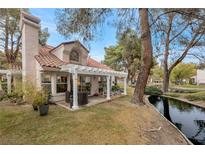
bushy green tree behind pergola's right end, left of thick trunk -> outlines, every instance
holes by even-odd
[[[137,33],[127,29],[119,34],[118,44],[105,48],[104,63],[115,70],[127,70],[133,79],[140,68],[141,42]]]

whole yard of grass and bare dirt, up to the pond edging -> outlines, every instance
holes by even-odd
[[[31,106],[0,104],[0,144],[186,144],[152,108],[129,102],[127,96],[75,112],[51,105],[45,117]]]

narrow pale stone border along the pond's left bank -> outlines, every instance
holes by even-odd
[[[171,124],[171,126],[173,126],[173,127],[182,135],[182,137],[186,140],[186,142],[188,143],[188,145],[193,145],[193,143],[184,135],[184,133],[182,133],[173,123],[171,123],[169,120],[167,120],[167,118],[166,118],[163,114],[161,114],[161,113],[156,109],[156,107],[155,107],[154,105],[152,105],[152,104],[149,102],[148,97],[149,97],[149,96],[146,96],[146,98],[145,98],[145,101],[147,102],[147,104],[148,104],[150,107],[152,107],[156,112],[158,112],[158,113],[162,116],[162,118],[164,118],[169,124]]]

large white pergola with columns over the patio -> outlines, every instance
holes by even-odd
[[[107,78],[107,100],[110,100],[110,77],[124,78],[124,95],[127,95],[127,73],[107,69],[94,68],[89,66],[81,66],[75,64],[66,64],[61,66],[61,71],[72,74],[73,78],[73,106],[72,109],[78,109],[78,88],[77,79],[78,74],[106,76]]]

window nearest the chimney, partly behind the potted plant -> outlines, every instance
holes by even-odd
[[[41,86],[44,90],[51,93],[51,75],[42,73],[41,74]]]

